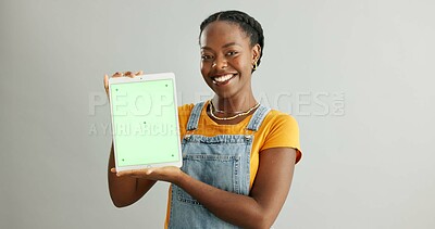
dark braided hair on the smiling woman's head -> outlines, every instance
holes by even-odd
[[[260,44],[261,48],[260,56],[257,60],[257,65],[259,66],[264,50],[264,35],[263,35],[263,28],[261,27],[260,23],[257,22],[257,20],[254,20],[253,17],[249,16],[247,13],[244,13],[241,11],[221,11],[210,15],[201,23],[199,37],[201,37],[202,30],[210,23],[215,21],[225,21],[239,25],[241,30],[244,30],[246,35],[249,36],[251,41],[251,47],[253,47],[257,43]],[[254,69],[252,69],[252,73]]]

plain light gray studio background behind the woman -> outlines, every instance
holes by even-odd
[[[115,208],[102,77],[174,72],[211,96],[199,24],[239,9],[265,33],[263,103],[299,122],[275,228],[434,228],[434,1],[0,1],[0,228],[162,228],[167,185]]]

